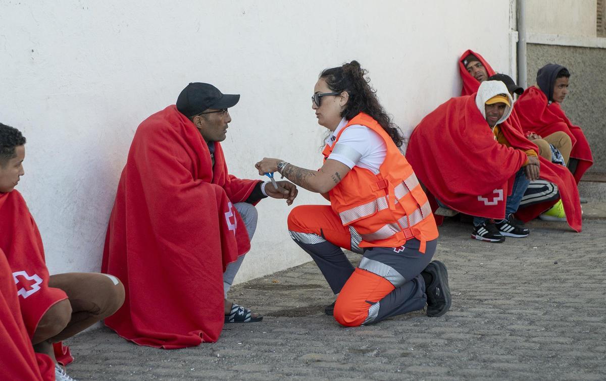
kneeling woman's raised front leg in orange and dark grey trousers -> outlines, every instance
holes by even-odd
[[[310,254],[333,293],[338,294],[354,270],[341,248],[362,253],[359,234],[344,227],[330,205],[293,208],[288,214],[288,233]]]

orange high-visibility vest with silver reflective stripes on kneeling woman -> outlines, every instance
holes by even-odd
[[[398,150],[391,137],[371,116],[359,113],[342,128],[333,144],[327,144],[324,160],[339,150],[339,137],[350,125],[364,125],[382,137],[387,147],[385,161],[379,174],[355,166],[330,192],[330,204],[341,217],[344,226],[350,226],[362,236],[360,247],[401,247],[408,239],[425,242],[438,237],[438,227],[431,207],[421,189],[413,168]]]

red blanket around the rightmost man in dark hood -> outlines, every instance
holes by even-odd
[[[558,102],[547,104],[547,97],[536,87],[529,87],[520,96],[515,105],[522,130],[534,131],[541,136],[548,136],[557,131],[564,131],[572,141],[570,157],[579,160],[574,171],[578,183],[581,177],[593,164],[593,156],[581,127],[573,125],[564,114]]]

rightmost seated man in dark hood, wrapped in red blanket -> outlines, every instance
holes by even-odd
[[[578,183],[593,164],[593,157],[581,127],[570,122],[560,105],[568,94],[569,82],[570,71],[567,68],[556,64],[545,65],[537,72],[536,85],[527,88],[518,99],[516,113],[522,130],[530,137],[554,136],[560,132],[570,137],[570,153],[562,151],[562,156],[569,155],[568,169]],[[553,140],[558,136],[561,135],[554,136]]]

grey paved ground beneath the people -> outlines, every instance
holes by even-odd
[[[469,239],[470,225],[445,223],[436,259],[448,267],[453,306],[443,317],[419,311],[342,328],[323,314],[333,296],[307,263],[234,287],[236,301],[265,319],[226,326],[218,343],[156,350],[101,328],[68,342],[77,357],[68,373],[82,380],[605,380],[606,220],[594,213],[579,234],[564,223],[528,227],[526,239],[488,244]]]

